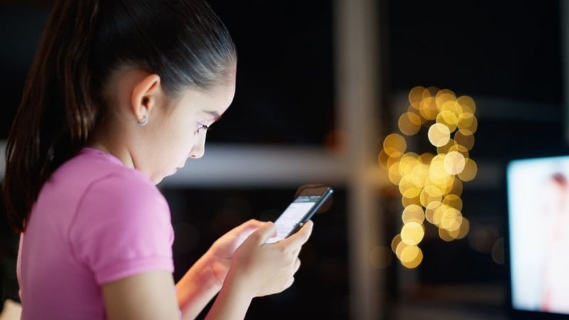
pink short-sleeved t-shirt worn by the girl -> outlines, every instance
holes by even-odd
[[[164,196],[118,158],[84,147],[43,185],[20,235],[22,320],[106,319],[101,285],[174,272]]]

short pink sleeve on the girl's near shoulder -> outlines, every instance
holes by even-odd
[[[68,237],[97,284],[151,270],[174,272],[170,210],[142,173],[114,173],[85,190]]]

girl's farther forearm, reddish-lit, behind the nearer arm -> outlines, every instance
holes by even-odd
[[[183,320],[195,319],[219,292],[221,285],[202,257],[176,284],[176,298]]]

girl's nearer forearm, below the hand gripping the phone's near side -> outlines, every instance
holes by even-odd
[[[205,320],[242,320],[253,300],[253,295],[240,278],[229,274]]]

